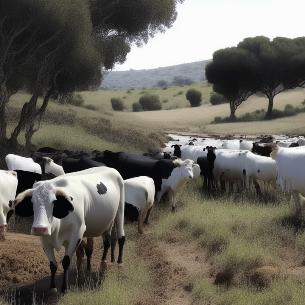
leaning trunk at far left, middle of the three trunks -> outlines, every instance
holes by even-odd
[[[18,146],[18,136],[20,132],[33,121],[34,111],[36,110],[38,94],[34,93],[28,103],[22,107],[20,121],[16,128],[12,131],[12,136],[9,139],[13,147]]]

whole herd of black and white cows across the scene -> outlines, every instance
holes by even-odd
[[[110,246],[114,262],[116,242],[117,264],[121,266],[124,217],[137,221],[142,234],[154,199],[160,201],[167,192],[174,210],[178,191],[199,175],[204,178],[203,188],[225,190],[228,181],[230,192],[235,185],[237,189],[253,185],[258,195],[258,181],[276,182],[292,194],[296,213],[300,212],[298,195],[305,196],[303,139],[289,145],[233,140],[223,141],[219,147],[206,145],[208,141],[205,146],[200,142],[194,145],[193,140],[192,144],[173,144],[163,153],[142,156],[107,150],[69,155],[50,148],[40,149],[30,158],[9,154],[5,158],[9,170],[0,170],[0,235],[13,213],[33,217],[31,234],[40,236],[51,270],[49,294],[56,294],[54,248],[59,251],[64,246],[66,250],[62,292],[67,289],[67,270],[75,252],[78,267],[86,253],[90,270],[93,237],[102,236],[104,242],[100,271],[106,269]]]

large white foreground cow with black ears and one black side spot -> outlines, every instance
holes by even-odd
[[[83,237],[102,235],[104,252],[101,270],[107,266],[110,234],[116,219],[118,227],[119,258],[123,264],[124,236],[124,181],[117,170],[94,167],[76,173],[61,175],[52,180],[39,181],[19,194],[12,208],[17,215],[34,215],[31,234],[39,235],[51,269],[50,294],[56,294],[57,263],[54,248],[66,249],[63,259],[62,292],[68,286],[70,260]]]

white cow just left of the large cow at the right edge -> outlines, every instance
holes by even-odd
[[[270,157],[247,153],[246,173],[250,181],[253,182],[257,195],[261,195],[260,186],[256,179],[264,182],[276,181],[276,162]]]

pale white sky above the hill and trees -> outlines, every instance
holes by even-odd
[[[236,46],[246,37],[305,36],[304,0],[185,0],[177,11],[173,27],[142,48],[133,46],[114,71],[210,59],[214,51]]]

